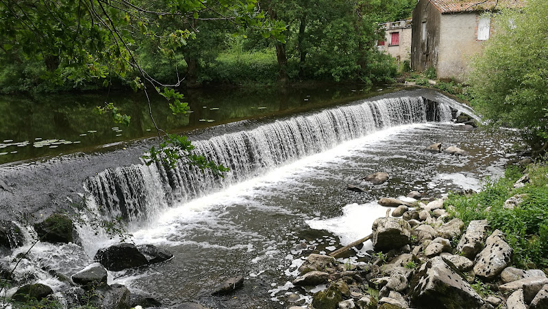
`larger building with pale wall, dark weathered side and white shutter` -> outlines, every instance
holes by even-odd
[[[473,55],[494,31],[483,13],[523,8],[525,0],[419,0],[413,11],[411,68],[436,68],[438,79],[463,81]]]

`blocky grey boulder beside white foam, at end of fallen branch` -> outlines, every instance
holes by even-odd
[[[399,249],[410,243],[411,226],[406,220],[378,218],[373,221],[372,230],[375,250]]]

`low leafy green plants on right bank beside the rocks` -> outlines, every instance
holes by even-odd
[[[493,229],[506,234],[512,247],[512,261],[518,267],[548,267],[548,163],[530,165],[525,171],[530,182],[514,188],[522,174],[511,168],[496,182],[488,181],[482,191],[467,198],[451,194],[445,203],[449,213],[460,217],[466,225],[471,220],[487,219]],[[523,195],[523,202],[506,208],[504,202]]]

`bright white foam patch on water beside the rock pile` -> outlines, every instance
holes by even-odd
[[[340,238],[340,245],[348,245],[371,234],[373,221],[386,215],[386,207],[377,202],[349,204],[343,207],[343,215],[331,219],[314,218],[306,224],[315,230],[327,230]],[[372,248],[371,241],[364,243],[361,251]],[[327,248],[326,248],[327,249]]]

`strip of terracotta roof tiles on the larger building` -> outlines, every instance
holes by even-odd
[[[525,0],[430,0],[442,13],[523,8]]]

